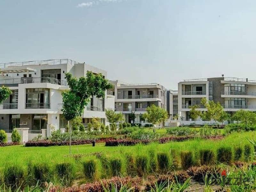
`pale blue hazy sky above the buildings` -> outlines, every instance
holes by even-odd
[[[70,58],[109,79],[256,79],[256,1],[0,1],[0,62]]]

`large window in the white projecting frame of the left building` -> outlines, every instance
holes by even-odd
[[[50,108],[50,89],[26,89],[26,108]]]

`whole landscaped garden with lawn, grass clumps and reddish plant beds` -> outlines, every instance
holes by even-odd
[[[28,191],[251,190],[255,188],[256,176],[254,145],[249,141],[256,136],[253,130],[253,126],[230,124],[225,129],[172,127],[153,132],[152,128],[123,127],[104,134],[74,131],[72,140],[76,143],[71,156],[65,145],[0,147],[1,188],[27,187]],[[32,143],[68,140],[68,133],[57,131],[47,140]],[[90,144],[79,145],[85,140]],[[98,141],[95,147],[93,140]],[[114,144],[109,145],[109,142]],[[223,180],[218,183],[224,173],[225,177],[240,177],[241,174],[249,185],[227,186]]]

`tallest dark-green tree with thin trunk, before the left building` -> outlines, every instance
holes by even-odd
[[[105,96],[105,91],[113,86],[107,79],[103,78],[102,74],[93,74],[88,71],[86,77],[77,79],[70,73],[65,74],[69,90],[62,92],[63,107],[61,111],[65,119],[69,123],[69,153],[71,155],[71,124],[70,121],[81,116],[85,106],[90,101],[91,96],[95,95],[98,98]]]

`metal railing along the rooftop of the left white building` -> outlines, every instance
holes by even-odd
[[[22,67],[29,65],[60,65],[60,64],[70,64],[74,65],[78,63],[70,59],[53,59],[53,60],[35,60],[35,61],[25,61],[25,62],[10,62],[10,63],[0,63],[0,68],[7,67]]]

